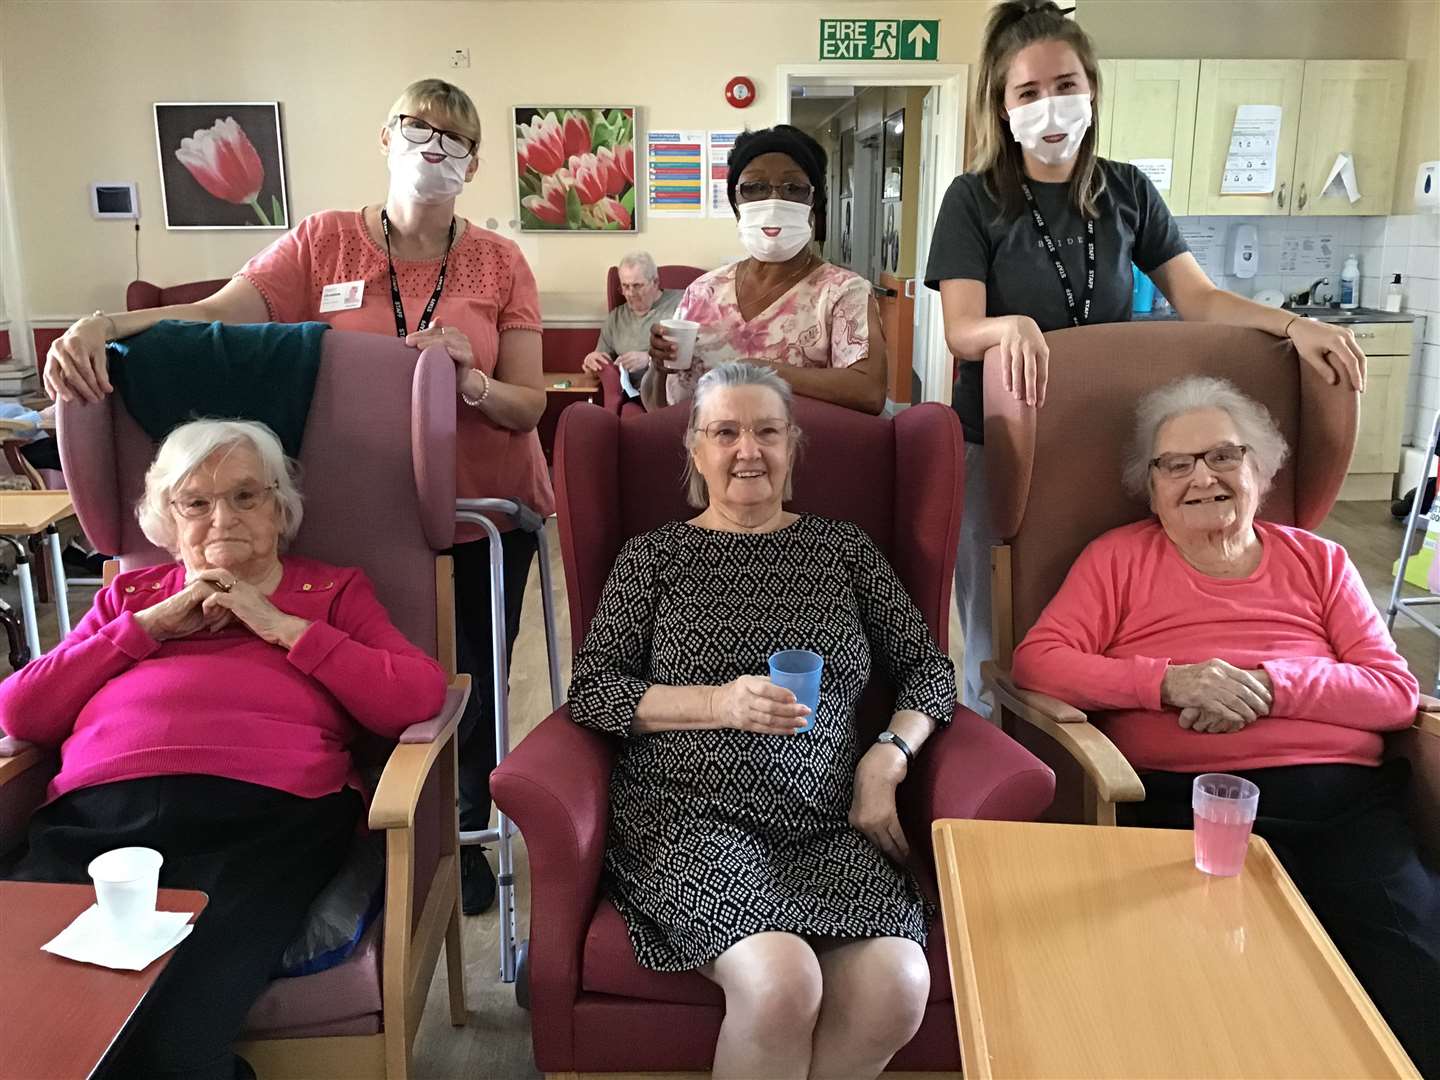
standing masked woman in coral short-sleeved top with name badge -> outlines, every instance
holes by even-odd
[[[461,498],[517,498],[541,516],[554,492],[536,425],[544,412],[540,301],[513,240],[455,215],[478,168],[480,114],[462,89],[422,79],[405,89],[380,128],[390,170],[383,203],[323,210],[252,258],[213,297],[150,311],[82,318],[45,364],[52,396],[109,393],[105,341],[163,318],[220,323],[321,320],[337,330],[396,334],[442,344],[459,369],[456,488]],[[501,530],[508,528],[501,523]],[[459,667],[477,687],[491,674],[490,543],[477,526],[456,528],[455,596]],[[536,539],[503,533],[507,649],[520,631]],[[471,696],[461,721],[461,828],[490,824],[494,696]],[[495,878],[484,850],[462,848],[464,909],[490,907]]]

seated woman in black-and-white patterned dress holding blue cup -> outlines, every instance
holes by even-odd
[[[608,894],[642,966],[724,991],[717,1077],[877,1076],[929,992],[896,788],[949,721],[955,671],[860,527],[783,508],[798,444],[775,372],[700,380],[701,513],[625,544],[570,684],[575,720],[624,740]],[[763,674],[786,648],[825,658],[805,732]],[[896,711],[857,766],[873,658]]]

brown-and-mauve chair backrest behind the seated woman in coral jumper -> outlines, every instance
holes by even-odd
[[[1139,399],[1182,376],[1228,379],[1264,405],[1284,435],[1290,456],[1261,517],[1315,528],[1333,505],[1355,445],[1359,395],[1328,384],[1289,341],[1204,323],[1080,327],[1045,341],[1050,383],[1038,410],[1015,402],[999,364],[985,360],[985,461],[995,534],[1011,549],[1014,642],[1087,543],[1149,514],[1120,487],[1120,464]]]

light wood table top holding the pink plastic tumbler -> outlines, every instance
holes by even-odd
[[[1414,1077],[1270,847],[1181,829],[937,821],[966,1080]]]

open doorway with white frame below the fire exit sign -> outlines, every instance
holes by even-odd
[[[893,408],[949,402],[939,297],[923,287],[940,197],[960,171],[962,65],[780,68],[779,121],[829,154],[825,258],[870,281],[886,328]]]

